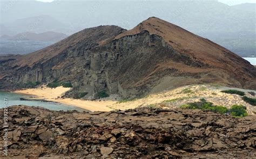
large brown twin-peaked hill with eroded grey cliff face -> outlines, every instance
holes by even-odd
[[[158,18],[134,29],[85,29],[43,50],[2,61],[3,88],[28,81],[70,81],[73,91],[96,98],[105,89],[123,98],[187,84],[219,83],[256,89],[256,69],[210,40]],[[72,96],[72,91],[68,94]]]

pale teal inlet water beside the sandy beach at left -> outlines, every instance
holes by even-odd
[[[0,108],[4,107],[4,98],[7,98],[8,106],[26,105],[26,106],[39,106],[39,107],[44,107],[44,108],[51,109],[51,110],[78,110],[78,111],[84,110],[84,109],[81,109],[78,107],[64,105],[62,103],[19,100],[19,98],[26,98],[26,97],[29,97],[29,96],[17,94],[17,93],[1,92],[0,91]]]

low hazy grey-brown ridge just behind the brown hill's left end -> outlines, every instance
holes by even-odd
[[[0,39],[8,39],[8,40],[16,40],[16,41],[31,40],[31,41],[42,41],[42,42],[58,42],[59,40],[62,40],[66,37],[68,36],[64,33],[48,31],[43,33],[24,32],[24,33],[16,34],[15,36],[3,35],[0,37]]]

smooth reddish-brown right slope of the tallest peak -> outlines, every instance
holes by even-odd
[[[134,29],[119,34],[116,39],[138,34],[144,30],[149,31],[150,34],[157,34],[174,50],[187,54],[208,66],[232,71],[240,77],[248,69],[252,69],[252,66],[246,60],[242,60],[241,57],[224,47],[156,17],[151,17],[134,27]],[[249,73],[254,74],[251,77],[255,77],[255,70]]]

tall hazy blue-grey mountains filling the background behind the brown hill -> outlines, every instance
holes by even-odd
[[[107,24],[131,29],[143,19],[156,16],[224,45],[240,56],[256,55],[255,4],[228,6],[216,0],[4,1],[1,4],[3,9],[12,5],[1,13],[1,27],[5,29],[0,34],[55,31],[70,35]]]

